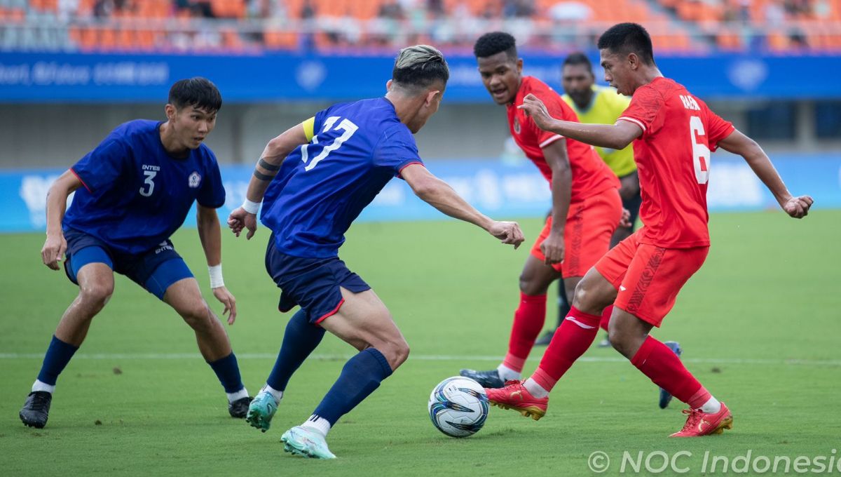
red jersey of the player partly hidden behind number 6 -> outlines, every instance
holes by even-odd
[[[534,119],[526,116],[522,109],[517,109],[528,93],[534,94],[546,104],[549,115],[555,119],[577,123],[578,116],[546,83],[535,77],[523,77],[514,103],[508,105],[508,127],[517,146],[520,146],[520,149],[526,153],[526,157],[540,169],[543,177],[552,183],[552,169],[547,164],[546,157],[543,156],[542,148],[563,139],[567,141],[569,168],[573,177],[570,202],[579,202],[609,188],[619,188],[619,179],[616,178],[616,174],[601,160],[592,146],[544,131],[538,128],[534,124]]]

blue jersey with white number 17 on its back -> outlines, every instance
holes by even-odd
[[[336,257],[345,232],[391,178],[421,163],[415,138],[386,98],[315,114],[314,136],[283,161],[263,197],[278,252]]]

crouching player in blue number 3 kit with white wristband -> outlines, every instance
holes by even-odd
[[[44,427],[56,379],[82,345],[93,316],[114,292],[114,272],[131,278],[172,306],[193,328],[198,349],[228,395],[230,416],[245,417],[246,388],[225,328],[198,290],[198,283],[169,237],[198,201],[198,237],[210,286],[236,318],[234,295],[222,280],[221,230],[216,209],[225,204],[216,157],[202,141],[214,129],[222,97],[212,82],[195,77],[172,85],[167,121],[119,125],[93,151],[61,175],[47,195],[45,265],[59,269],[79,295],[64,312],[38,379],[20,411],[30,427]],[[67,197],[76,191],[70,209]]]

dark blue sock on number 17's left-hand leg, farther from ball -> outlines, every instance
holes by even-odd
[[[274,390],[286,390],[289,378],[301,363],[304,363],[309,353],[318,346],[324,333],[324,328],[315,326],[307,320],[304,310],[298,310],[286,325],[278,360],[275,361],[272,374],[268,375],[266,384],[272,386]]]

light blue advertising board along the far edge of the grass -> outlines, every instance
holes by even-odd
[[[775,167],[791,193],[811,194],[815,208],[841,208],[841,155],[774,156]],[[547,182],[531,162],[431,161],[427,167],[450,183],[464,199],[495,218],[539,217],[551,204]],[[242,204],[251,166],[222,167],[227,199],[225,219]],[[61,170],[0,172],[0,232],[45,230],[45,204],[50,184]],[[740,158],[712,156],[707,202],[712,212],[775,209],[778,205],[754,172]],[[392,180],[362,212],[362,221],[437,220],[440,212],[417,199],[408,185]],[[195,225],[195,213],[187,225]]]

